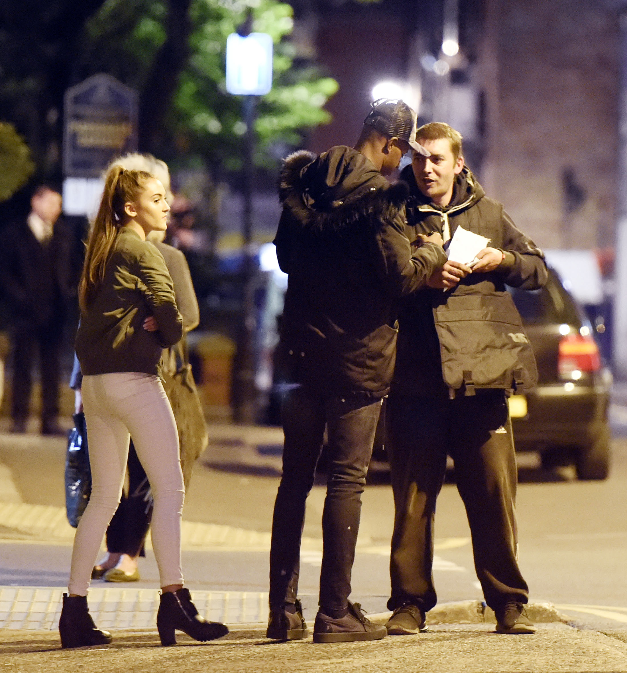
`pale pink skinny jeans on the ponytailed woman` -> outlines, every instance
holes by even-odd
[[[161,586],[183,584],[185,487],[176,422],[160,379],[138,372],[84,376],[82,393],[92,495],[74,538],[69,593],[87,595],[102,538],[120,502],[131,435],[154,497],[151,536]]]

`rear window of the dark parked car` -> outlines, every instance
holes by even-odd
[[[545,287],[521,290],[508,287],[516,308],[526,325],[568,324],[580,326],[581,318],[574,299],[562,287],[559,279],[550,273]]]

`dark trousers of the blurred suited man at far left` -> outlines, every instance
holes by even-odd
[[[13,380],[11,416],[13,421],[28,419],[32,369],[39,355],[42,422],[54,423],[59,415],[59,360],[62,324],[45,327],[18,324],[13,328]]]

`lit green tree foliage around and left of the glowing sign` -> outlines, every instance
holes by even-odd
[[[269,166],[285,145],[298,145],[302,133],[329,122],[325,102],[337,83],[311,65],[294,63],[292,7],[276,0],[192,0],[189,59],[180,72],[166,123],[153,151],[172,160],[199,157],[212,168],[241,168],[246,126],[242,100],[225,88],[226,38],[253,11],[253,30],[269,33],[275,44],[272,91],[259,100],[255,130],[257,163]],[[167,33],[168,7],[161,0],[107,0],[88,24],[84,75],[107,71],[142,91]]]

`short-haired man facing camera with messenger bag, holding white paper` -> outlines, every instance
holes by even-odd
[[[533,633],[523,610],[527,583],[517,563],[517,468],[506,390],[523,380],[533,384],[536,370],[505,285],[541,287],[546,265],[541,251],[464,166],[457,131],[436,122],[418,129],[416,138],[430,156],[414,155],[401,173],[411,194],[409,238],[441,232],[446,243],[461,226],[490,242],[472,268],[444,264],[428,287],[407,297],[399,315],[386,418],[395,500],[388,602],[394,613],[388,632],[426,630],[425,613],[436,604],[434,513],[449,454],[471,529],[477,577],[496,612],[497,631]],[[463,322],[469,316],[474,325]],[[504,320],[518,323],[513,333],[502,330]],[[531,371],[521,363],[523,347]]]

